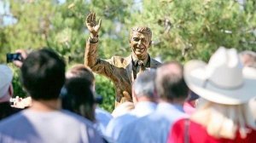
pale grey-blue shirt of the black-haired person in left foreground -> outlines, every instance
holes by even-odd
[[[0,142],[102,142],[92,123],[72,112],[26,109],[0,123]]]

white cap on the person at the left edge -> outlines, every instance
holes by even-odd
[[[9,85],[13,79],[13,72],[6,65],[0,65],[0,98],[2,98],[9,89]]]

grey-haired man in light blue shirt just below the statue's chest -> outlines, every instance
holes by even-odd
[[[106,135],[116,141],[119,133],[125,126],[139,117],[144,117],[151,112],[154,112],[156,100],[158,96],[154,88],[155,70],[150,70],[140,74],[132,86],[132,99],[135,104],[135,109],[131,112],[113,118],[109,123]]]

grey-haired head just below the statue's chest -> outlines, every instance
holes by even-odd
[[[133,99],[156,101],[156,93],[154,88],[155,70],[143,72],[133,83]]]

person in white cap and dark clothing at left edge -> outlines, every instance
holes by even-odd
[[[0,120],[9,117],[19,109],[10,106],[9,99],[13,96],[12,86],[13,72],[6,65],[0,65]]]

